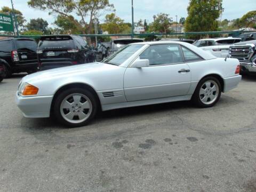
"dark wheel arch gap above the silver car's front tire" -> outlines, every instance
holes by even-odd
[[[63,86],[59,87],[59,89],[54,93],[52,103],[51,103],[51,110],[50,110],[51,115],[52,115],[53,108],[54,108],[53,105],[54,105],[54,102],[55,102],[58,94],[61,93],[64,90],[67,90],[67,89],[70,89],[70,88],[75,88],[75,87],[89,90],[95,96],[95,98],[96,98],[96,100],[99,104],[99,108],[100,108],[100,110],[102,110],[99,96],[98,96],[97,92],[93,89],[92,86],[90,86],[88,84],[85,84],[85,83],[69,83],[69,84],[66,84],[66,85],[63,85]]]

